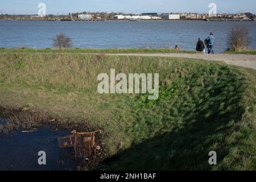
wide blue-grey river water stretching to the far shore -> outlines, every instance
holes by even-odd
[[[52,47],[52,38],[63,32],[73,39],[74,47],[82,48],[142,48],[174,47],[195,50],[197,39],[215,36],[215,52],[225,51],[232,26],[250,30],[251,48],[256,49],[256,22],[204,22],[194,20],[137,22],[45,22],[0,21],[0,47]]]

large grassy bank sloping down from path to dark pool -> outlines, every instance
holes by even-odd
[[[1,50],[0,107],[39,109],[101,127],[112,156],[102,169],[256,169],[252,69],[204,60],[47,51]],[[110,68],[159,73],[159,99],[98,94],[97,76],[109,75]],[[212,150],[217,166],[208,164]]]

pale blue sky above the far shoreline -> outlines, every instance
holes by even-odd
[[[209,3],[217,4],[217,13],[251,12],[256,14],[255,0],[0,0],[3,14],[37,14],[38,4],[46,3],[47,14],[68,14],[81,11],[124,13],[208,13]]]

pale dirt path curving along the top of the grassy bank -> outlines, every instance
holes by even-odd
[[[118,53],[108,55],[184,57],[210,61],[224,61],[226,64],[237,65],[240,67],[252,68],[256,70],[256,55],[237,55],[228,53],[220,53],[215,55],[197,53]]]

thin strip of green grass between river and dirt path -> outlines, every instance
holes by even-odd
[[[0,48],[0,52],[55,52],[55,53],[197,53],[196,51],[175,50],[173,48]]]

